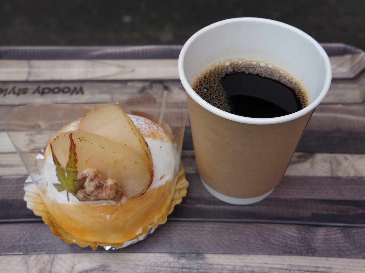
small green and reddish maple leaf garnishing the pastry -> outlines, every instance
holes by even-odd
[[[53,152],[52,143],[50,145],[53,162],[56,165],[56,175],[58,178],[59,183],[53,183],[53,186],[57,189],[57,191],[67,191],[67,200],[69,200],[68,193],[76,196],[76,192],[78,189],[81,188],[82,184],[85,183],[86,177],[82,179],[76,179],[77,177],[77,155],[76,155],[76,144],[72,139],[72,133],[69,135],[70,138],[70,149],[69,149],[69,159],[66,164],[66,171],[65,168],[61,167],[56,155]]]

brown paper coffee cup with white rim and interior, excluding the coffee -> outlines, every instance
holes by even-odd
[[[307,87],[310,104],[274,118],[224,112],[191,87],[196,75],[216,62],[262,58],[296,75]],[[196,164],[204,187],[232,204],[266,198],[283,178],[315,107],[331,83],[326,52],[295,27],[262,18],[223,20],[196,32],[183,46],[180,80],[188,94]]]

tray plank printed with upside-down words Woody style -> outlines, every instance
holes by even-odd
[[[334,80],[323,100],[325,104],[357,104],[365,100],[365,74],[355,80]],[[178,79],[146,79],[121,81],[51,81],[51,82],[1,82],[0,97],[2,105],[29,103],[90,103],[96,101],[118,101],[126,99],[126,94],[138,95],[146,92],[181,90]],[[122,92],[121,92],[122,91]],[[344,96],[346,92],[346,96]],[[99,98],[95,98],[95,95]],[[136,95],[137,94],[137,95]],[[15,100],[16,99],[16,100]],[[75,101],[76,100],[76,101]]]

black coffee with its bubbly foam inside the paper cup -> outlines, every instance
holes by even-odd
[[[309,104],[299,79],[284,67],[258,58],[218,62],[201,71],[192,88],[211,105],[245,117],[285,116]]]

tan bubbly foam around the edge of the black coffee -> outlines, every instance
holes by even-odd
[[[302,108],[309,105],[307,88],[299,78],[285,67],[261,58],[229,59],[215,63],[201,71],[191,84],[193,90],[206,102],[218,109],[231,113],[226,92],[220,79],[233,73],[259,75],[278,81],[295,91]]]

